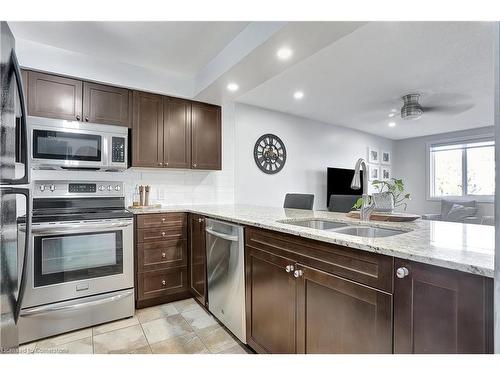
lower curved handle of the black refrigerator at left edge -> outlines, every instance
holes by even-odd
[[[21,280],[17,293],[17,300],[14,300],[14,321],[17,323],[21,313],[24,292],[26,291],[26,278],[28,273],[28,251],[31,243],[31,201],[30,190],[26,188],[4,187],[2,188],[2,195],[24,195],[26,197],[26,223],[25,223],[25,236],[24,236],[24,253],[22,257],[21,266]]]

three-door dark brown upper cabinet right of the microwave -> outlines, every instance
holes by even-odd
[[[220,107],[139,91],[133,102],[133,167],[221,169]]]

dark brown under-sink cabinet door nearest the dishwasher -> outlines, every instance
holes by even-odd
[[[247,342],[259,353],[295,353],[294,261],[245,248]]]

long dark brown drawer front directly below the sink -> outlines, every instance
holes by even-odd
[[[257,228],[245,233],[246,246],[392,293],[392,257]]]

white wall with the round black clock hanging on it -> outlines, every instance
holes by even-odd
[[[368,146],[392,150],[393,141],[348,128],[245,104],[236,104],[235,201],[279,207],[286,193],[312,193],[315,209],[326,208],[327,167],[354,168]],[[265,133],[285,143],[281,172],[267,175],[253,159],[255,141]]]

